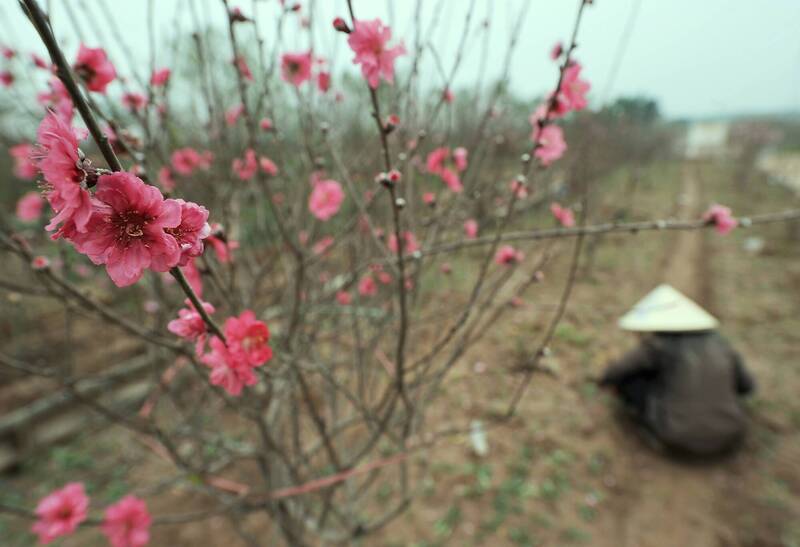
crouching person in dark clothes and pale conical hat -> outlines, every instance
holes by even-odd
[[[739,397],[755,386],[739,354],[716,332],[718,324],[669,285],[657,287],[619,321],[641,333],[641,341],[608,367],[600,383],[614,388],[633,418],[667,448],[715,455],[744,436]]]

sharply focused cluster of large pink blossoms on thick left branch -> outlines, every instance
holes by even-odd
[[[146,269],[165,272],[203,252],[210,234],[205,207],[164,199],[131,173],[100,174],[78,148],[80,135],[53,113],[39,126],[37,167],[56,212],[47,229],[60,225],[54,237],[104,264],[118,287],[135,283]]]

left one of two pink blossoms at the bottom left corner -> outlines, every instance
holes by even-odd
[[[50,543],[57,537],[74,532],[78,525],[86,520],[88,509],[89,498],[86,496],[83,484],[71,482],[39,502],[36,506],[36,516],[39,520],[31,530],[39,536],[41,543]]]

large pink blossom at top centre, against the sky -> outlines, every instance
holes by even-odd
[[[347,43],[356,54],[353,62],[361,65],[361,73],[369,86],[377,88],[381,77],[390,84],[394,83],[394,60],[406,53],[403,43],[387,47],[387,42],[392,39],[392,30],[380,19],[355,21],[353,26]]]

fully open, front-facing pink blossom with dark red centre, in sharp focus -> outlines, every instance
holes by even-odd
[[[166,228],[181,224],[181,204],[164,200],[155,186],[130,173],[102,175],[85,234],[73,242],[95,264],[105,264],[118,287],[136,283],[144,270],[165,272],[181,259],[178,241]]]

